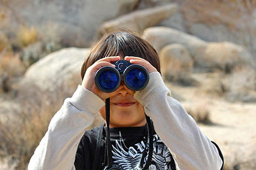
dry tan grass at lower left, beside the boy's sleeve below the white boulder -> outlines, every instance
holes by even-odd
[[[65,92],[56,96],[42,92],[33,85],[27,85],[18,97],[19,113],[1,115],[0,158],[8,159],[8,164],[16,164],[15,169],[26,169],[35,148],[43,138],[49,122],[63,104]],[[67,95],[67,93],[66,93]]]

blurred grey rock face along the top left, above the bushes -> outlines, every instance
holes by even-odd
[[[58,25],[61,44],[67,46],[89,46],[97,27],[105,21],[129,13],[134,10],[138,0],[107,0],[107,1],[6,1],[0,6],[12,6],[6,18],[10,18],[10,27],[17,31],[21,24],[35,26],[39,33],[48,23]],[[11,17],[9,16],[11,15]],[[18,18],[18,19],[17,19]],[[17,24],[19,23],[19,24]],[[0,24],[1,25],[1,24]],[[51,27],[49,27],[51,29]]]

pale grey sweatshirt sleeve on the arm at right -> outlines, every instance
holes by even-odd
[[[217,148],[181,104],[171,97],[158,72],[150,73],[145,89],[134,94],[152,118],[155,131],[168,146],[177,169],[221,169]]]

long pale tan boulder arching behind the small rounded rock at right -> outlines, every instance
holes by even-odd
[[[172,43],[186,46],[193,57],[195,66],[204,68],[206,71],[221,69],[229,73],[235,67],[254,65],[252,55],[243,46],[234,43],[207,43],[195,36],[168,27],[145,29],[143,37],[152,43],[157,52]]]

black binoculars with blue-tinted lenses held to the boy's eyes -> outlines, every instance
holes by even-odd
[[[95,74],[95,84],[102,92],[114,92],[122,80],[125,86],[133,91],[142,90],[147,86],[149,75],[145,67],[131,64],[127,60],[117,60],[113,64],[115,68],[105,66]]]

